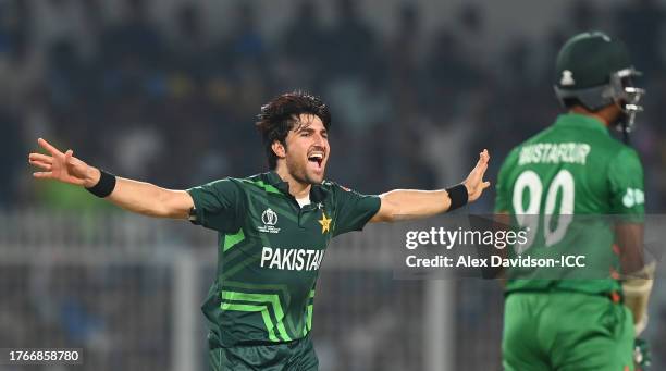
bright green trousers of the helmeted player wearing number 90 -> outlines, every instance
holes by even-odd
[[[575,292],[511,293],[505,371],[633,371],[633,317],[621,304]]]

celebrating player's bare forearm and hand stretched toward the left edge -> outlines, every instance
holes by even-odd
[[[54,180],[90,188],[99,180],[99,169],[74,157],[73,150],[60,151],[42,138],[37,140],[48,154],[30,153],[29,163],[40,168],[33,173],[38,180]],[[172,190],[150,183],[116,177],[113,191],[106,197],[119,207],[148,217],[187,219],[194,201],[185,190]]]

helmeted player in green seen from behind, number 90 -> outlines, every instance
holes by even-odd
[[[642,111],[638,75],[625,46],[608,35],[569,39],[557,57],[555,85],[568,112],[514,148],[499,170],[495,211],[531,233],[521,253],[570,248],[604,269],[584,280],[506,272],[504,370],[634,370],[653,275],[642,256],[643,168],[609,129],[628,134]],[[608,214],[621,218],[594,231],[574,220]]]

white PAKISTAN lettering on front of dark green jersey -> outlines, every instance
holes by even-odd
[[[261,268],[286,271],[317,271],[323,260],[324,250],[282,249],[263,247]]]

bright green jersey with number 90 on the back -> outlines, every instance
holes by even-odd
[[[563,114],[510,151],[499,170],[495,212],[508,212],[514,225],[528,231],[514,257],[584,257],[585,268],[510,268],[507,292],[619,290],[608,215],[642,222],[643,168],[637,152],[602,122]]]

